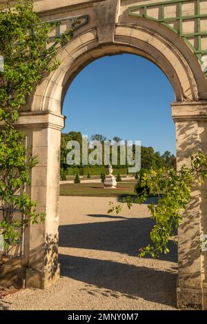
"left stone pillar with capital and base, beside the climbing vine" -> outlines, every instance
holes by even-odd
[[[0,283],[16,287],[45,288],[59,279],[59,163],[63,116],[51,112],[25,112],[17,128],[26,133],[32,155],[39,163],[31,170],[31,185],[26,188],[37,212],[46,213],[45,223],[30,225],[25,232],[21,258],[4,260]],[[2,280],[1,280],[2,279]]]

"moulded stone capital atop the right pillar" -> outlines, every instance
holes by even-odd
[[[207,119],[207,101],[186,101],[171,104],[174,121],[199,121]]]

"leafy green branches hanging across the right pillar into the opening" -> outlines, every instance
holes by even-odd
[[[154,195],[159,196],[157,205],[150,204],[151,219],[155,225],[150,232],[151,245],[143,247],[139,256],[143,257],[150,254],[153,258],[158,257],[161,253],[169,252],[169,239],[175,236],[177,227],[182,221],[182,214],[191,199],[191,192],[201,185],[207,177],[207,157],[198,152],[191,156],[190,168],[183,165],[179,171],[169,166],[159,169],[151,168],[146,170],[141,176],[141,187],[148,186]],[[127,197],[123,199],[128,207],[131,208],[133,203],[144,203],[148,194],[142,192],[135,199]],[[114,206],[110,203],[108,212],[119,212],[120,205]]]

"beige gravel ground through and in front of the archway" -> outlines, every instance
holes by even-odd
[[[61,197],[61,279],[46,290],[0,300],[8,310],[172,310],[177,247],[159,260],[138,259],[152,222],[146,205],[109,216],[109,198]],[[116,199],[111,199],[116,201]]]

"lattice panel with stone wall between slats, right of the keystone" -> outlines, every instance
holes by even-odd
[[[169,0],[128,8],[130,16],[167,26],[182,37],[207,72],[207,0]]]

